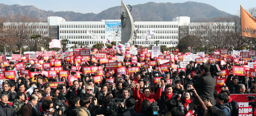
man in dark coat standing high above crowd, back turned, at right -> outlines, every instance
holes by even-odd
[[[200,73],[197,76],[194,76],[194,78],[197,78],[194,82],[194,88],[196,89],[198,95],[203,101],[210,100],[212,105],[215,105],[215,99],[214,99],[214,88],[216,84],[216,79],[212,77],[210,73],[210,65],[209,64],[202,64],[200,65]],[[194,101],[194,104],[197,105],[197,102]],[[203,116],[204,112],[202,112],[200,106],[197,106],[197,115]]]

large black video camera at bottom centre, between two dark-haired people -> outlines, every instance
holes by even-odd
[[[124,107],[122,107],[121,103],[124,104],[124,102],[125,99],[111,99],[110,102],[107,104],[107,113],[112,114],[116,110],[122,110]]]

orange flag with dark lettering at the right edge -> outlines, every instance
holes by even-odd
[[[241,7],[241,33],[242,36],[256,37],[256,19]]]

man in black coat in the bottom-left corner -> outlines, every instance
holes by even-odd
[[[12,116],[14,110],[11,105],[7,104],[8,95],[5,93],[1,94],[0,100],[0,116]]]

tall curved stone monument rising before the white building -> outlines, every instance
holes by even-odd
[[[131,10],[129,10],[127,6],[124,4],[124,2],[121,0],[121,44],[133,43],[134,21],[132,19],[130,11]]]

